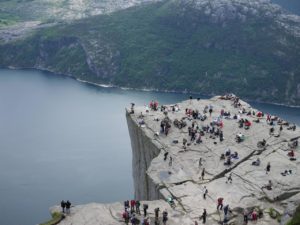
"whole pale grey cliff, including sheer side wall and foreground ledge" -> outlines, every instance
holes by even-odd
[[[208,111],[204,113],[208,108],[212,109],[211,115]],[[201,114],[200,119],[189,114],[192,110]],[[300,204],[297,145],[300,131],[298,127],[293,130],[293,124],[287,124],[275,115],[268,119],[267,115],[261,117],[259,114],[259,110],[244,101],[239,100],[236,105],[234,100],[219,96],[209,100],[188,100],[157,111],[136,107],[131,113],[131,109],[127,109],[135,199],[157,199],[147,202],[151,224],[154,224],[155,207],[168,210],[167,224],[194,224],[204,208],[208,212],[206,224],[220,224],[224,214],[216,209],[219,197],[224,198],[224,205],[228,204],[231,209],[228,224],[243,224],[245,208],[262,213],[258,220],[261,225],[284,225],[289,221]],[[206,119],[203,119],[204,115]],[[234,115],[238,119],[234,119]],[[245,129],[244,125],[241,127],[241,122],[238,122],[241,119],[251,123],[249,129]],[[162,121],[171,124],[167,135],[160,132]],[[179,129],[174,121],[182,121],[186,126]],[[191,140],[188,130],[193,124],[202,134],[202,142]],[[205,130],[207,126],[210,127],[208,131]],[[212,127],[223,132],[222,140],[210,132]],[[239,135],[241,142],[236,141]],[[259,145],[258,142],[263,139],[266,140],[265,145]],[[223,159],[221,156],[228,149],[231,151],[231,164],[225,165],[228,157]],[[292,149],[296,154],[295,161],[288,156]],[[234,152],[238,153],[237,157],[231,155]],[[260,158],[260,165],[252,165],[257,158]],[[266,173],[268,163],[271,169]],[[227,182],[230,174],[232,182]],[[270,189],[266,188],[269,180],[272,182]],[[206,199],[203,199],[204,187],[208,189]],[[175,202],[172,207],[165,201],[170,197]],[[59,210],[58,207],[53,208],[53,211]],[[121,203],[75,206],[71,215],[60,224],[122,224],[122,211]]]

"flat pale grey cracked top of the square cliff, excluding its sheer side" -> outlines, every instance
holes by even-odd
[[[229,204],[231,209],[260,207],[268,209],[275,207],[281,213],[284,204],[282,201],[296,195],[300,191],[300,171],[299,161],[291,161],[287,155],[291,149],[291,139],[299,138],[299,129],[295,131],[287,129],[283,126],[280,132],[280,126],[277,122],[271,126],[267,122],[267,115],[260,118],[260,122],[256,123],[258,110],[253,109],[246,102],[240,101],[241,106],[235,108],[233,101],[221,100],[214,97],[210,100],[188,100],[177,104],[179,111],[172,112],[168,106],[168,117],[171,121],[182,119],[187,126],[178,129],[172,123],[172,127],[168,135],[160,133],[161,120],[165,115],[161,111],[146,112],[145,107],[135,108],[135,119],[139,121],[139,115],[144,115],[145,125],[141,129],[145,130],[145,134],[149,138],[155,139],[162,147],[161,154],[153,159],[147,174],[152,178],[155,184],[160,185],[161,193],[164,197],[170,195],[178,200],[176,209],[188,213],[191,218],[201,215],[204,208],[208,213],[219,215],[216,210],[217,199],[224,198],[224,204]],[[206,113],[207,119],[201,121],[192,119],[186,115],[185,109],[198,110],[203,115],[205,106],[212,106],[213,112],[210,116]],[[242,109],[246,113],[241,113]],[[221,118],[220,112],[224,110],[230,112],[230,118]],[[247,115],[247,112],[251,115]],[[253,111],[255,115],[253,115]],[[239,128],[237,119],[233,119],[233,115],[239,118],[247,119],[251,122],[250,129]],[[159,121],[157,121],[157,119]],[[224,134],[224,140],[220,141],[218,136],[205,133],[202,136],[202,143],[197,144],[190,141],[188,135],[188,127],[195,122],[195,127],[202,129],[203,126],[210,125],[217,119],[223,122],[221,130]],[[291,124],[290,124],[291,125]],[[215,126],[216,127],[216,126]],[[270,134],[270,128],[274,128],[274,133]],[[158,136],[155,133],[160,133]],[[244,135],[245,140],[237,143],[235,137],[238,133]],[[183,148],[183,139],[187,139],[189,146]],[[265,139],[267,145],[265,148],[257,146],[258,141]],[[173,141],[178,141],[174,144]],[[224,165],[225,160],[221,160],[221,154],[225,154],[227,149],[231,153],[237,152],[238,159],[232,159],[230,166]],[[299,147],[295,149],[297,154]],[[168,152],[168,158],[164,161],[164,153]],[[169,164],[172,157],[172,165]],[[202,158],[202,165],[199,166],[199,159]],[[253,166],[252,162],[260,158],[261,165]],[[270,162],[271,171],[266,174],[266,166]],[[204,180],[201,179],[201,171],[205,168]],[[283,176],[282,172],[292,170],[292,174]],[[226,183],[227,177],[232,173],[232,183]],[[268,181],[273,183],[272,190],[263,188]],[[208,189],[208,197],[203,199],[204,186]],[[266,214],[266,213],[265,213]],[[216,217],[217,220],[219,216]],[[223,217],[223,213],[220,213]],[[267,219],[267,217],[265,218]],[[268,219],[266,220],[268,221]],[[262,222],[262,221],[261,221]],[[273,221],[272,224],[276,224]]]

